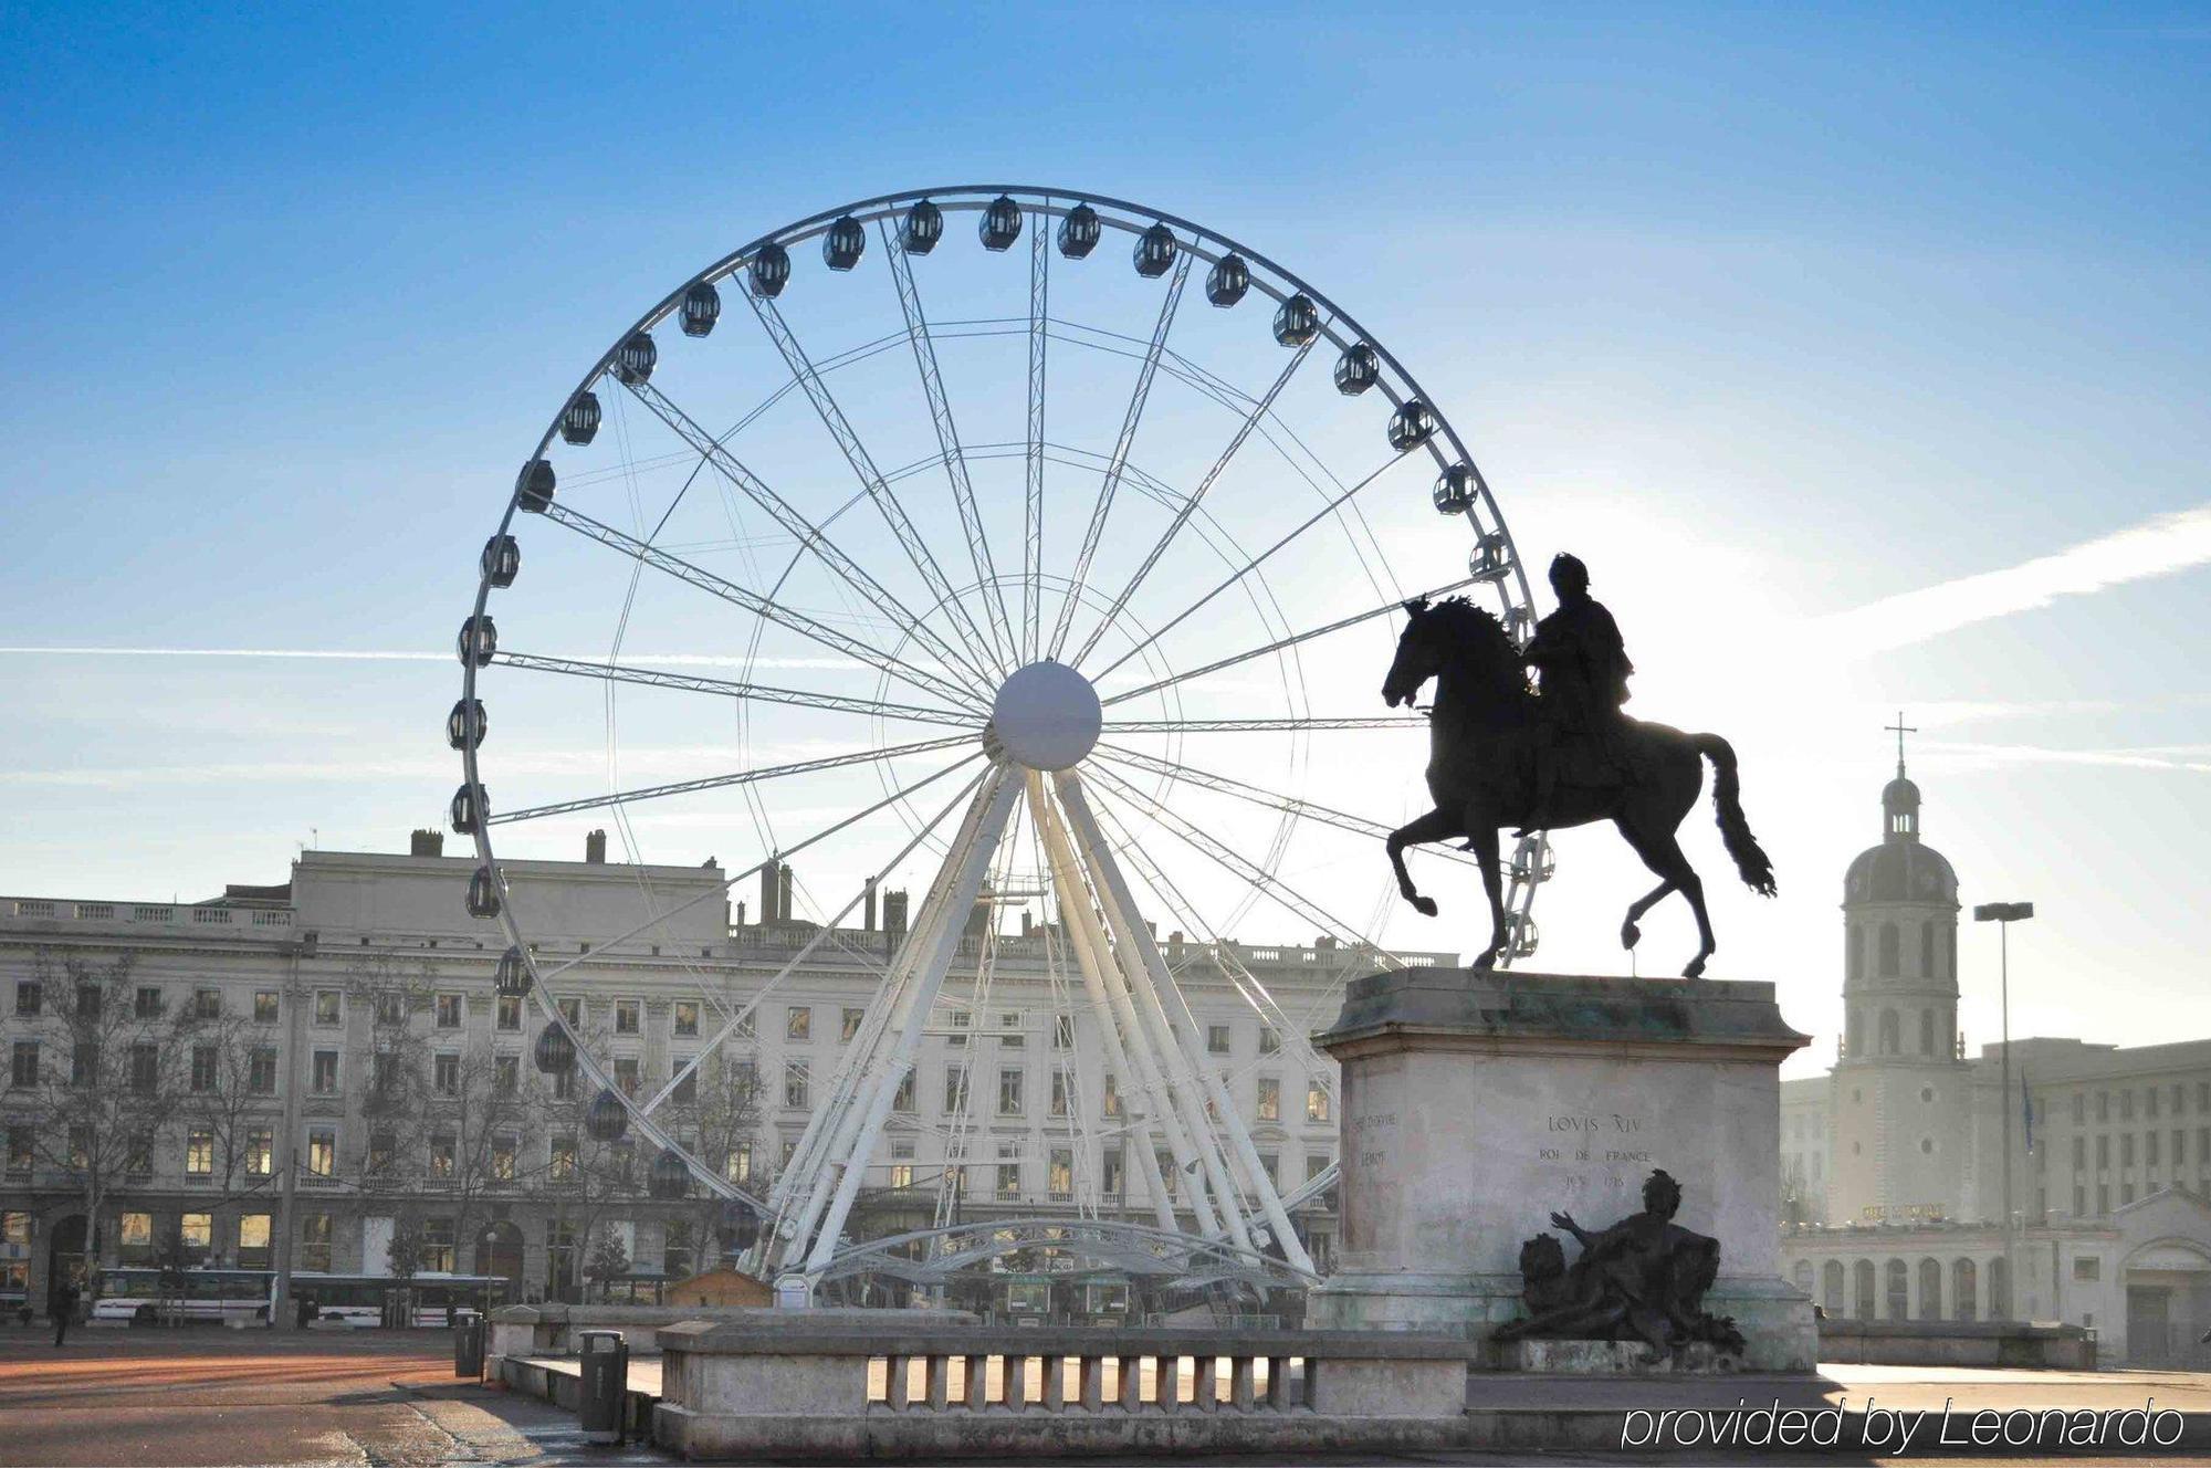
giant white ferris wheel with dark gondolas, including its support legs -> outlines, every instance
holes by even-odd
[[[1165,1154],[1201,1236],[1311,1269],[1300,1194],[1254,1154],[1185,990],[1225,984],[1333,1077],[1304,1041],[1333,1013],[1285,1010],[1236,940],[1318,935],[1371,971],[1435,933],[1382,926],[1402,920],[1380,838],[1426,758],[1424,719],[1377,705],[1397,612],[1457,593],[1519,639],[1534,621],[1466,444],[1342,307],[1099,195],[827,210],[615,336],[478,568],[447,723],[469,911],[504,926],[502,993],[546,1019],[537,1066],[579,1072],[595,1136],[657,1143],[657,1189],[747,1203],[754,1260],[820,1278],[920,1039],[979,1021],[1019,953],[1052,1024],[1097,1037],[1052,1063],[1141,1092],[1117,1125],[1152,1130],[1156,1150],[1130,1147],[1150,1196]],[[537,944],[515,900],[517,864],[573,851],[579,822],[615,825],[652,915],[601,955],[754,882],[783,931],[743,993],[699,964],[708,1015],[650,1086],[562,1004],[584,953]],[[652,864],[708,849],[738,856],[705,887]],[[1534,951],[1541,836],[1506,867],[1510,962]],[[853,913],[873,929],[900,884],[918,895],[898,942],[856,940]],[[860,966],[876,997],[761,1187],[677,1099],[809,962]],[[1103,1125],[1068,1110],[1070,1134]],[[953,1178],[977,1128],[935,1130]],[[1161,1234],[1187,1231],[1156,1207]]]

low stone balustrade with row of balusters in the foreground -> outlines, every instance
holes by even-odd
[[[1426,1450],[1470,1344],[1395,1331],[692,1320],[659,1331],[654,1439],[685,1457]],[[878,1313],[880,1315],[880,1313]]]

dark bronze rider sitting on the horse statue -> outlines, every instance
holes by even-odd
[[[1590,568],[1579,557],[1559,553],[1552,559],[1550,588],[1559,597],[1559,610],[1537,623],[1521,654],[1543,674],[1537,707],[1548,730],[1537,758],[1530,827],[1548,825],[1559,765],[1568,758],[1596,754],[1594,761],[1585,754],[1576,761],[1581,783],[1603,783],[1627,763],[1627,719],[1621,705],[1630,699],[1627,679],[1636,670],[1612,612],[1590,597]]]

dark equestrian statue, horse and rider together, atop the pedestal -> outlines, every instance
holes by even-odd
[[[1705,973],[1718,944],[1705,911],[1705,882],[1683,856],[1676,831],[1696,805],[1711,761],[1711,800],[1720,840],[1751,891],[1773,895],[1773,862],[1751,836],[1736,780],[1736,752],[1718,734],[1683,734],[1663,723],[1627,719],[1627,679],[1634,663],[1618,623],[1590,597],[1590,570],[1572,555],[1550,564],[1559,610],[1537,623],[1528,648],[1515,648],[1490,612],[1464,597],[1404,604],[1406,628],[1397,659],[1382,681],[1391,707],[1435,679],[1428,712],[1428,794],[1435,809],[1389,836],[1397,891],[1426,918],[1435,900],[1413,887],[1404,849],[1435,840],[1466,840],[1481,860],[1490,898],[1490,946],[1475,968],[1492,968],[1508,942],[1499,829],[1559,831],[1610,820],[1634,847],[1658,887],[1627,906],[1621,946],[1643,937],[1636,922],[1669,893],[1689,900],[1700,946],[1683,977]],[[1530,685],[1528,670],[1537,685]]]

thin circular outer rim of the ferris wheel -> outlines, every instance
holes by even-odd
[[[1094,210],[1101,210],[1099,212],[1099,223],[1103,228],[1112,228],[1112,230],[1119,230],[1119,232],[1125,232],[1125,234],[1141,234],[1145,228],[1165,226],[1170,230],[1176,230],[1183,237],[1183,239],[1176,239],[1178,250],[1187,250],[1196,259],[1203,259],[1207,263],[1218,263],[1220,259],[1225,259],[1229,254],[1243,256],[1254,268],[1251,287],[1258,290],[1258,292],[1262,292],[1262,294],[1267,294],[1267,296],[1271,296],[1274,301],[1287,301],[1293,294],[1302,294],[1302,296],[1311,298],[1311,303],[1316,307],[1320,307],[1320,312],[1322,312],[1322,321],[1320,321],[1320,327],[1318,327],[1318,336],[1320,338],[1324,338],[1324,340],[1329,340],[1335,347],[1346,349],[1346,352],[1351,347],[1366,347],[1369,352],[1375,354],[1375,358],[1384,367],[1382,376],[1377,378],[1377,385],[1384,389],[1384,394],[1389,396],[1389,400],[1395,407],[1402,407],[1404,402],[1417,400],[1417,402],[1424,402],[1433,411],[1435,433],[1431,433],[1417,447],[1424,447],[1428,451],[1428,458],[1433,462],[1442,464],[1442,466],[1464,464],[1468,469],[1468,473],[1473,475],[1473,489],[1475,489],[1475,493],[1470,495],[1470,502],[1468,502],[1468,506],[1464,511],[1464,517],[1470,520],[1477,526],[1477,531],[1479,531],[1481,528],[1481,520],[1477,517],[1477,508],[1486,508],[1488,511],[1488,522],[1503,537],[1506,555],[1510,557],[1508,577],[1495,577],[1495,579],[1490,579],[1490,584],[1495,586],[1497,595],[1506,601],[1506,606],[1515,606],[1515,604],[1517,606],[1532,606],[1532,595],[1530,595],[1530,588],[1528,588],[1526,566],[1523,566],[1523,562],[1521,562],[1521,557],[1519,557],[1519,553],[1517,553],[1517,548],[1512,544],[1510,526],[1503,520],[1503,513],[1497,506],[1497,500],[1495,500],[1495,495],[1492,495],[1486,478],[1479,473],[1479,466],[1475,464],[1473,455],[1468,453],[1468,449],[1466,449],[1464,440],[1459,438],[1457,429],[1450,424],[1448,416],[1435,405],[1435,400],[1422,389],[1419,380],[1404,367],[1404,363],[1380,338],[1375,338],[1371,332],[1366,332],[1364,325],[1360,325],[1360,321],[1355,316],[1351,316],[1346,310],[1342,310],[1331,296],[1327,296],[1324,292],[1320,292],[1318,287],[1313,287],[1309,281],[1304,281],[1296,272],[1282,268],[1271,256],[1267,256],[1267,254],[1262,254],[1258,250],[1251,250],[1249,245],[1236,241],[1234,237],[1227,237],[1227,234],[1223,234],[1218,230],[1201,226],[1201,223],[1196,223],[1196,221],[1192,221],[1187,217],[1181,217],[1181,214],[1172,214],[1172,212],[1154,210],[1154,208],[1128,201],[1128,199],[1117,199],[1117,197],[1110,197],[1110,195],[1097,195],[1097,192],[1083,192],[1083,190],[1061,190],[1061,188],[1028,186],[1028,184],[964,184],[964,186],[898,190],[898,192],[889,192],[889,195],[873,195],[873,197],[867,197],[867,199],[858,199],[858,201],[851,201],[851,203],[845,203],[845,206],[838,206],[838,208],[820,210],[820,212],[809,214],[809,217],[805,217],[800,221],[794,221],[794,223],[783,226],[778,230],[765,232],[765,234],[747,241],[738,250],[732,250],[730,254],[721,256],[719,261],[714,261],[705,270],[701,270],[701,272],[692,274],[690,279],[685,279],[674,292],[670,292],[666,298],[661,298],[657,305],[652,305],[648,312],[643,312],[628,329],[624,329],[612,340],[612,345],[599,356],[599,360],[590,367],[590,371],[577,382],[577,387],[570,389],[568,396],[562,400],[562,407],[553,413],[553,420],[548,422],[546,431],[537,440],[537,447],[535,447],[535,451],[533,451],[531,458],[533,460],[542,460],[546,455],[546,451],[551,449],[553,440],[559,436],[562,418],[568,411],[568,405],[573,405],[581,394],[590,391],[597,382],[601,382],[601,380],[606,380],[606,378],[610,378],[615,374],[615,363],[617,363],[617,356],[619,356],[621,347],[632,336],[637,336],[639,332],[650,332],[652,327],[657,327],[659,323],[663,323],[668,316],[672,316],[677,310],[681,310],[681,305],[685,301],[685,292],[690,292],[694,285],[714,283],[714,281],[721,281],[721,279],[727,279],[727,276],[741,272],[767,245],[785,245],[785,248],[789,248],[792,243],[805,243],[805,241],[809,241],[814,237],[820,237],[822,232],[827,232],[827,228],[831,228],[831,223],[836,223],[836,221],[840,221],[845,217],[858,219],[862,223],[876,223],[876,221],[889,219],[893,212],[898,212],[902,208],[911,208],[913,203],[924,201],[924,199],[937,203],[940,208],[944,208],[949,212],[979,210],[979,208],[986,208],[984,197],[993,197],[993,199],[995,197],[1013,197],[1015,201],[1019,201],[1024,206],[1024,212],[1039,214],[1039,217],[1063,217],[1063,214],[1068,214],[1077,206],[1090,206]],[[1212,248],[1207,248],[1207,245],[1212,245]],[[1271,281],[1262,279],[1262,272],[1267,276],[1274,276],[1274,279]],[[1282,290],[1282,285],[1287,285],[1289,290]],[[743,290],[743,285],[741,285],[741,290]],[[732,429],[732,433],[734,433],[734,429]],[[1400,453],[1397,458],[1406,458],[1406,455],[1408,453]],[[1397,460],[1389,460],[1384,464],[1384,469],[1391,466],[1393,462],[1397,462]],[[515,493],[509,495],[506,508],[504,508],[504,513],[502,513],[502,517],[497,522],[495,537],[506,537],[506,535],[513,533],[515,513],[520,508],[522,508],[522,486],[517,484]],[[803,555],[803,548],[800,548],[798,555]],[[1251,570],[1251,566],[1247,566],[1245,570]],[[1004,579],[1004,577],[999,577],[999,579]],[[1510,588],[1506,586],[1506,579],[1512,581]],[[1461,581],[1457,586],[1468,586],[1468,584],[1473,584],[1473,577],[1468,577],[1468,581]],[[478,595],[475,595],[475,601],[473,601],[473,617],[475,619],[482,619],[486,615],[489,604],[491,604],[491,590],[493,590],[493,579],[491,579],[491,573],[486,570],[478,579]],[[962,593],[964,590],[966,588],[962,588]],[[1134,590],[1134,588],[1130,588],[1130,590]],[[1515,590],[1517,590],[1517,597],[1515,597]],[[1075,599],[1079,599],[1081,586],[1077,586],[1075,593],[1077,593],[1077,597],[1070,597],[1070,606],[1072,606]],[[1090,637],[1090,643],[1083,648],[1086,654],[1097,643],[1097,639],[1106,632],[1106,628],[1110,626],[1110,621],[1112,621],[1112,617],[1108,617],[1106,621],[1101,621],[1094,628],[1094,632]],[[1145,646],[1150,646],[1150,643],[1145,643]],[[1262,652],[1274,652],[1274,650],[1280,650],[1280,648],[1265,648]],[[756,643],[754,643],[754,652],[756,652]],[[1143,652],[1143,648],[1136,648],[1134,652]],[[1119,663],[1114,663],[1114,665],[1119,665]],[[478,670],[480,670],[480,663],[475,663],[471,659],[464,659],[462,696],[464,696],[464,701],[471,701],[471,703],[478,696]],[[1139,688],[1134,692],[1123,692],[1123,694],[1117,696],[1117,701],[1119,699],[1134,699],[1139,694],[1150,694],[1150,692],[1165,692],[1170,685],[1181,683],[1185,677],[1194,677],[1194,674],[1176,674],[1172,679],[1161,679],[1154,685]],[[988,694],[984,694],[984,696],[988,696]],[[946,712],[953,712],[953,710],[946,710]],[[1110,725],[1108,725],[1108,734],[1112,734]],[[484,805],[484,800],[482,800],[484,785],[482,785],[478,747],[480,747],[480,741],[471,741],[462,749],[462,769],[464,769],[464,789],[473,789],[475,798],[478,798],[478,805],[482,807]],[[973,758],[973,756],[968,756],[968,758]],[[953,769],[966,765],[968,758],[962,758],[955,765],[951,765],[951,767],[946,767],[946,769],[929,776],[929,780],[924,780],[924,785],[926,783],[935,783],[944,774],[951,774]],[[1181,763],[1181,761],[1176,761],[1176,763]],[[1101,758],[1101,765],[1112,765],[1110,774],[1106,774],[1101,769],[1101,774],[1106,774],[1106,778],[1110,783],[1119,783],[1121,778],[1134,774],[1132,765],[1128,765],[1128,763],[1123,763],[1123,761],[1119,761],[1119,758],[1114,758],[1110,754],[1106,754]],[[884,763],[878,761],[876,767],[878,767],[878,772],[887,774],[887,765]],[[1172,776],[1167,776],[1167,778],[1172,778]],[[913,789],[918,789],[918,787],[913,787]],[[893,796],[893,798],[900,798],[904,794],[911,794],[911,791],[898,791],[898,796]],[[482,809],[482,816],[480,816],[478,827],[475,827],[478,860],[493,875],[493,880],[497,882],[497,887],[504,889],[506,887],[504,862],[493,851],[491,833],[489,833],[491,825],[493,825],[493,820],[489,816],[489,809]],[[831,827],[831,829],[836,829],[836,827]],[[924,827],[922,836],[926,836],[926,827]],[[778,856],[787,856],[787,853],[789,851],[780,851]],[[769,862],[774,862],[774,860],[776,860],[776,856],[769,858]],[[745,871],[741,871],[736,875],[730,875],[721,884],[721,891],[730,891],[732,887],[736,887],[738,882],[743,882],[752,873],[761,871],[761,867],[765,867],[765,864],[767,862],[761,862],[761,864],[754,864],[752,869],[745,869]],[[652,922],[661,922],[668,915],[672,915],[672,913],[659,913]],[[520,926],[520,920],[515,915],[513,902],[502,902],[497,918],[500,918],[502,929],[506,931],[509,942],[526,955],[524,962],[528,964],[528,971],[531,971],[531,975],[535,979],[537,977],[537,960],[535,960],[535,953],[533,953],[533,946],[531,946],[528,937],[524,935],[524,931]],[[553,975],[546,975],[546,977],[555,977],[557,973],[564,973],[570,966],[573,964],[562,964],[562,966],[557,966],[553,971]],[[548,986],[544,982],[533,982],[531,990],[537,997],[537,1006],[544,1013],[546,1021],[553,1024],[553,1026],[557,1026],[559,1030],[568,1032],[570,1041],[575,1041],[579,1070],[584,1070],[590,1077],[590,1081],[597,1083],[604,1092],[617,1094],[621,1099],[621,1105],[628,1112],[630,1121],[637,1123],[639,1130],[648,1139],[657,1141],[663,1150],[683,1156],[685,1163],[688,1163],[688,1167],[690,1167],[690,1172],[692,1172],[692,1176],[699,1178],[699,1181],[703,1181],[712,1192],[719,1192],[725,1198],[741,1198],[741,1200],[745,1200],[745,1203],[750,1203],[750,1205],[754,1205],[758,1209],[767,1207],[758,1196],[754,1196],[745,1187],[738,1187],[736,1183],[730,1183],[727,1178],[719,1176],[719,1172],[712,1170],[712,1167],[703,1167],[690,1154],[688,1147],[679,1145],[672,1136],[668,1136],[666,1132],[661,1132],[661,1128],[650,1116],[650,1112],[654,1108],[652,1105],[639,1105],[635,1097],[628,1097],[628,1094],[621,1092],[621,1088],[612,1079],[612,1072],[606,1070],[606,1068],[601,1068],[597,1063],[597,1057],[593,1055],[593,1048],[588,1044],[584,1044],[584,1037],[579,1032],[575,1032],[575,1028],[568,1024],[566,1015],[559,1010],[559,1006],[551,997]],[[701,1055],[703,1052],[705,1052],[705,1048],[701,1048]]]

